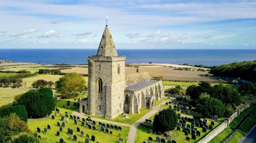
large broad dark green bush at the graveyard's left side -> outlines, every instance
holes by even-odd
[[[24,105],[28,116],[32,118],[42,118],[51,114],[55,108],[55,100],[52,90],[41,88],[40,90],[29,90],[28,92],[15,97],[14,104]]]

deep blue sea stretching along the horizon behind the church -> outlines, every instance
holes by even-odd
[[[0,59],[41,64],[87,64],[97,49],[0,49]],[[256,60],[256,49],[119,49],[126,63],[169,63],[207,66]]]

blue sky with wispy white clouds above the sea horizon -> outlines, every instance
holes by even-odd
[[[0,48],[256,49],[256,0],[0,0]]]

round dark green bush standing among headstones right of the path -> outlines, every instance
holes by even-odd
[[[172,131],[178,124],[178,116],[173,109],[163,109],[154,116],[154,130],[156,132]]]

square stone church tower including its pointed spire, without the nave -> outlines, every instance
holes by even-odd
[[[106,25],[96,56],[88,56],[88,114],[113,119],[124,112],[125,56]]]

